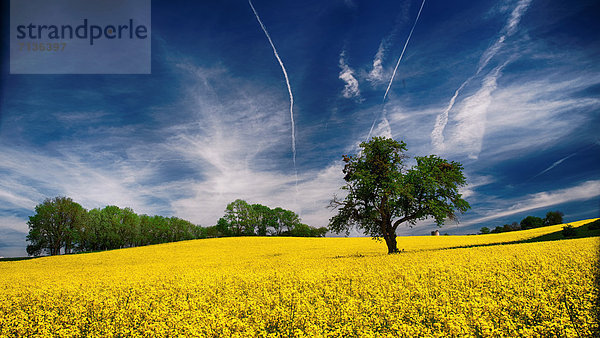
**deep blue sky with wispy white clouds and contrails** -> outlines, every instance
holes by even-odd
[[[371,126],[463,163],[472,209],[442,233],[600,216],[597,1],[430,0],[416,24],[421,1],[253,5],[294,140],[246,1],[154,0],[151,75],[9,75],[3,39],[0,256],[25,254],[27,217],[58,195],[203,226],[242,198],[325,226]]]

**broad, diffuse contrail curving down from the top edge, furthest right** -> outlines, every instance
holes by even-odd
[[[469,82],[471,82],[471,80],[473,80],[477,75],[479,75],[481,71],[488,65],[490,60],[498,53],[506,38],[515,33],[515,31],[517,30],[517,25],[519,24],[519,21],[521,20],[521,17],[525,13],[525,11],[527,11],[527,8],[529,8],[531,1],[532,0],[519,1],[517,6],[513,9],[508,21],[504,25],[503,34],[498,38],[498,40],[496,40],[496,42],[494,42],[493,45],[488,47],[485,50],[485,52],[483,52],[483,55],[481,55],[481,57],[479,58],[479,65],[475,74],[471,75],[467,80],[465,80],[465,82],[463,82],[460,85],[460,87],[458,87],[458,89],[454,92],[454,95],[450,99],[450,102],[448,103],[446,109],[444,109],[444,111],[437,116],[435,120],[435,126],[431,131],[431,143],[436,149],[442,150],[444,146],[443,132],[444,128],[446,128],[446,124],[448,123],[448,113],[450,112],[452,107],[454,107],[456,98],[463,90],[463,88],[465,88],[465,86]]]

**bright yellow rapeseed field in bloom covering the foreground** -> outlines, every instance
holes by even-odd
[[[561,227],[401,237],[397,255],[244,237],[0,262],[0,336],[590,336],[598,237],[486,245]]]

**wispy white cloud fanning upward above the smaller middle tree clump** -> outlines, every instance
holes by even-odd
[[[301,194],[295,196],[295,178],[282,169],[286,166],[281,147],[286,142],[286,120],[277,114],[279,102],[228,74],[220,74],[219,79],[238,88],[237,93],[210,97],[205,93],[214,92],[210,88],[213,75],[202,69],[193,74],[188,108],[197,124],[186,121],[173,126],[165,147],[201,166],[202,178],[186,184],[190,195],[172,202],[174,212],[210,225],[223,215],[227,203],[242,198],[296,210],[309,224],[328,219],[325,206],[341,186],[341,167],[331,165],[298,175]]]

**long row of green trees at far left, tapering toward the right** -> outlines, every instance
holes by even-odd
[[[68,197],[46,199],[29,217],[27,253],[58,255],[200,238],[203,229],[177,217],[138,215],[114,205],[87,211]]]

